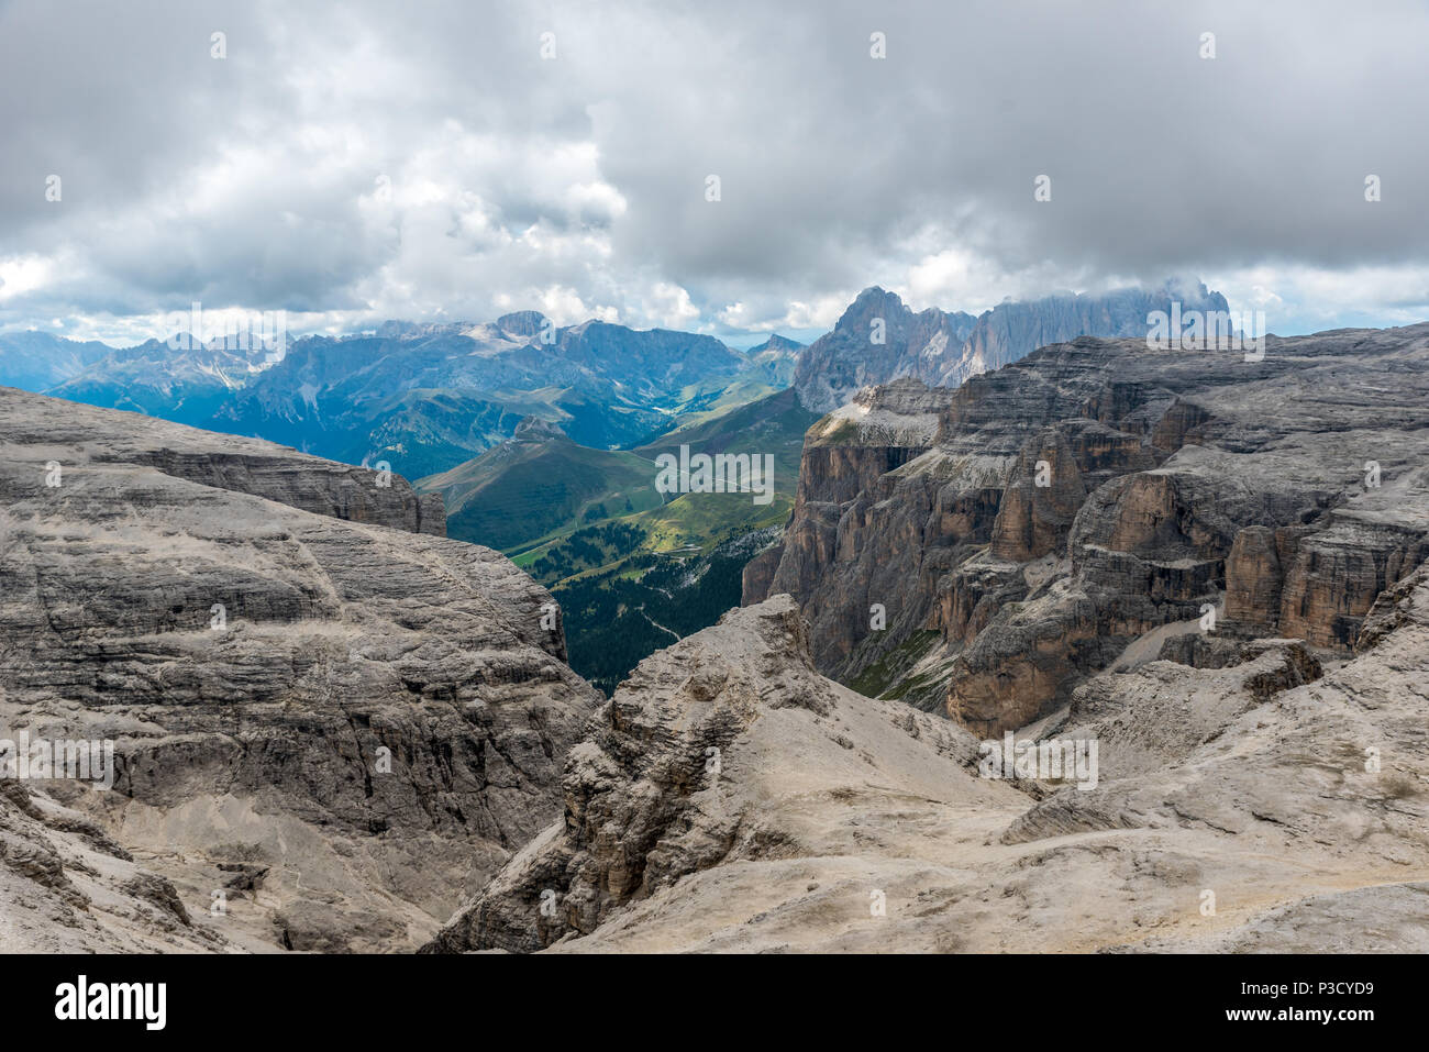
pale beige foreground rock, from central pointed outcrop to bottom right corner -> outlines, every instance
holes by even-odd
[[[956,725],[822,682],[787,597],[743,607],[642,665],[427,949],[1422,952],[1429,566],[1392,610],[1329,668],[1092,676],[1019,736],[1096,742],[1082,788],[982,778]]]

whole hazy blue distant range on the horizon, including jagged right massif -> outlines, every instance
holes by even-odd
[[[557,327],[534,310],[492,323],[384,322],[262,356],[187,333],[111,349],[21,332],[0,333],[0,383],[420,477],[512,437],[526,417],[592,449],[632,449],[790,386],[816,413],[903,376],[956,386],[1047,343],[1143,333],[1147,313],[1172,302],[1226,309],[1205,286],[1167,283],[1007,302],[973,317],[915,313],[870,287],[813,344],[773,334],[743,353],[697,333]]]

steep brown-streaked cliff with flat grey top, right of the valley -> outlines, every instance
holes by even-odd
[[[953,392],[866,392],[806,436],[746,602],[795,595],[822,670],[979,735],[1209,607],[1218,633],[1345,653],[1429,555],[1426,363],[1429,326],[1256,362],[1079,339]]]

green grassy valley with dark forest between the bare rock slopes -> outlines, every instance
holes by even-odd
[[[443,495],[449,536],[500,549],[552,589],[572,668],[610,693],[640,659],[739,605],[745,563],[775,543],[793,507],[815,419],[786,389],[693,415],[630,450],[579,446],[524,420],[507,442],[416,486]],[[772,456],[772,502],[659,493],[656,457],[680,446]]]

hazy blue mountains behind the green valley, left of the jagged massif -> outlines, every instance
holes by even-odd
[[[373,333],[304,336],[276,363],[220,342],[194,350],[150,342],[47,392],[347,463],[386,460],[416,477],[510,437],[524,417],[592,447],[632,445],[736,382],[760,390],[769,374],[767,360],[710,336],[602,322],[556,329],[517,312],[492,324],[389,322]]]

